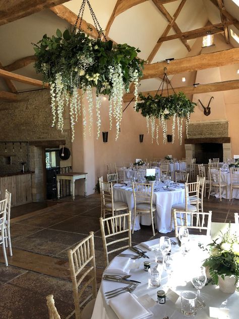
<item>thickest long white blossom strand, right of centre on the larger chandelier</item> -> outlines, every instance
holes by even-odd
[[[110,100],[113,105],[113,117],[116,122],[116,136],[115,141],[118,139],[120,133],[120,124],[122,120],[122,97],[124,90],[124,81],[121,65],[118,64],[116,67],[109,66],[109,78],[112,82],[112,90]]]

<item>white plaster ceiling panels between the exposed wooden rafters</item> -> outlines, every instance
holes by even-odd
[[[102,29],[105,29],[116,0],[91,0],[90,3]],[[165,4],[164,7],[173,16],[180,3],[181,0],[177,0]],[[81,1],[79,0],[72,0],[64,4],[64,6],[75,14],[78,14],[80,5]],[[235,3],[232,0],[224,0],[224,5],[226,10],[239,20],[239,8]],[[89,23],[93,23],[87,6],[84,19]],[[219,11],[210,0],[187,0],[183,10],[176,19],[176,24],[182,32],[201,28],[207,23],[215,24],[220,22]],[[146,0],[117,16],[111,25],[109,37],[118,43],[128,43],[129,45],[138,47],[141,50],[139,57],[147,60],[167,24],[167,20],[159,12],[154,3],[151,0]],[[57,28],[64,30],[69,27],[70,25],[66,21],[58,18],[50,10],[44,10],[0,26],[0,38],[1,42],[4,43],[4,45],[1,45],[0,62],[3,66],[6,66],[18,59],[34,55],[31,42],[37,42],[45,33],[51,36]],[[239,35],[239,31],[234,26],[228,27],[229,31],[230,28]],[[171,34],[175,34],[173,29],[168,33],[168,35]],[[201,51],[200,41],[202,39],[188,40],[192,48],[190,52],[188,52],[180,39],[165,41],[160,46],[152,63],[167,58],[181,59],[186,56],[197,55]],[[238,43],[231,36],[230,43],[231,46],[238,46]],[[40,74],[36,74],[33,63],[14,72],[35,79],[41,79]],[[193,81],[194,76],[190,78]],[[14,84],[18,91],[37,88],[19,82],[14,82]],[[141,81],[140,89],[142,91],[156,89],[158,84],[160,84],[160,79],[143,80]],[[0,79],[0,90],[8,90],[2,79]]]

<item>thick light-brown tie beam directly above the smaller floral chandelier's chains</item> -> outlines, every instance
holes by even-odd
[[[224,65],[238,63],[238,61],[239,48],[235,47],[228,50],[216,51],[208,54],[201,54],[199,56],[173,60],[169,64],[167,64],[166,62],[147,64],[144,66],[143,79],[161,77],[165,73],[165,68],[167,75],[170,75],[221,67]]]

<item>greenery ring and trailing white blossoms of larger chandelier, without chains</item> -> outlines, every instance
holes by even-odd
[[[113,44],[111,40],[91,39],[83,32],[70,32],[68,29],[62,33],[59,29],[56,36],[43,35],[42,39],[34,45],[35,69],[43,76],[43,82],[50,84],[51,108],[53,123],[58,116],[59,128],[63,130],[63,102],[67,102],[64,96],[69,92],[72,96],[76,89],[95,88],[96,95],[107,94],[109,100],[113,99],[114,118],[117,130],[122,118],[122,97],[125,89],[129,91],[129,85],[133,81],[135,95],[138,95],[138,79],[142,77],[144,61],[137,57],[139,49],[128,44]],[[120,80],[114,83],[112,72],[116,72]],[[116,94],[116,96],[115,96]],[[69,103],[71,110],[72,138],[74,139],[74,124],[79,110],[80,101],[74,96]],[[60,110],[58,110],[58,104]],[[55,111],[57,110],[57,112]],[[98,103],[99,118],[99,103]],[[110,115],[111,116],[111,115]],[[90,122],[92,114],[90,114]],[[99,122],[99,121],[98,121]],[[97,131],[99,132],[99,124]],[[112,123],[110,123],[110,127]],[[97,134],[98,136],[99,134]],[[116,132],[117,136],[117,132]]]

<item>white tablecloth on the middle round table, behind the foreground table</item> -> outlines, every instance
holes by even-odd
[[[153,203],[156,204],[156,219],[157,219],[157,229],[160,233],[166,234],[170,230],[170,221],[171,221],[171,206],[177,203],[183,203],[185,201],[185,189],[175,191],[166,191],[164,190],[163,183],[160,183],[160,191],[154,192],[153,194]],[[183,184],[182,184],[183,185]],[[134,208],[134,197],[132,190],[125,190],[122,188],[114,188],[113,196],[115,201],[123,201],[128,204],[129,209],[132,211],[132,222],[133,222],[133,208]],[[151,221],[147,216],[139,216],[135,222],[134,230],[140,229],[140,223],[142,225],[151,225]]]

